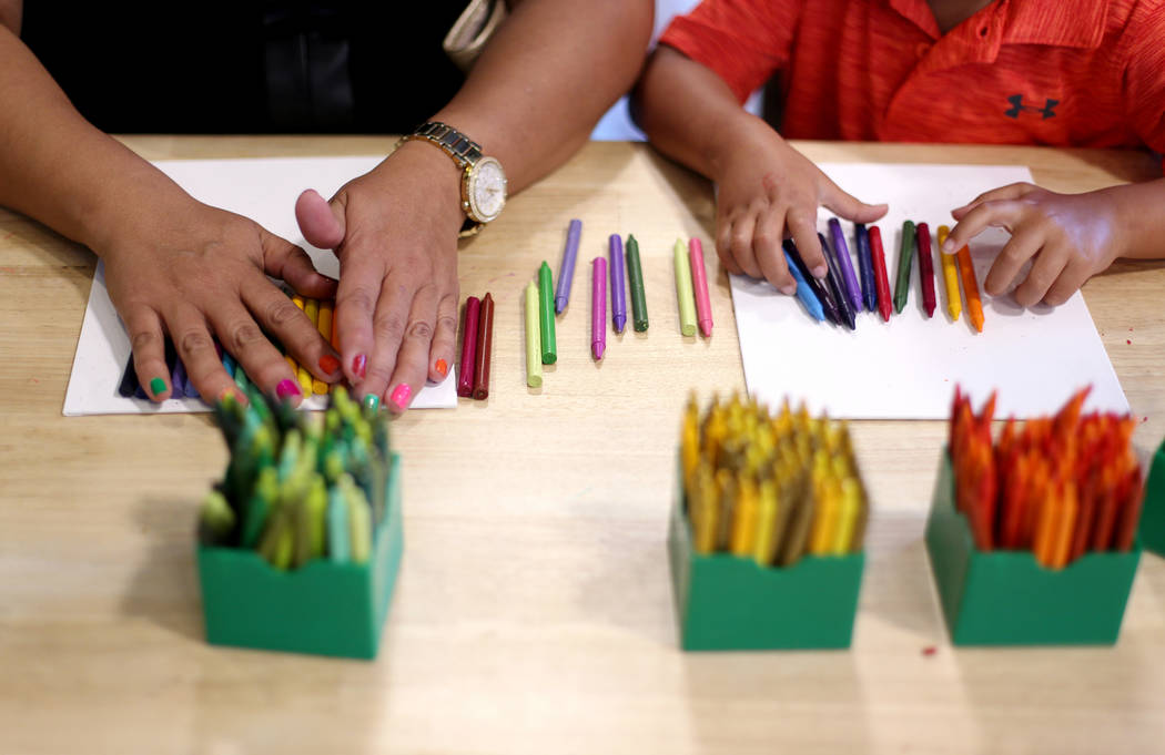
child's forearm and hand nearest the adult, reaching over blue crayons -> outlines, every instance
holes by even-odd
[[[743,109],[720,77],[661,47],[635,92],[636,116],[664,154],[719,185],[716,252],[734,273],[765,278],[784,293],[797,284],[781,242],[792,236],[806,265],[826,275],[817,240],[817,208],[856,222],[885,214],[838,187],[804,155]]]

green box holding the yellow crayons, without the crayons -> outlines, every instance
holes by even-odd
[[[680,647],[685,650],[848,648],[863,554],[806,556],[788,568],[692,548],[683,485],[668,551]]]

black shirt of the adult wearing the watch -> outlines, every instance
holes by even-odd
[[[110,133],[403,133],[457,93],[465,0],[26,0],[21,37]]]

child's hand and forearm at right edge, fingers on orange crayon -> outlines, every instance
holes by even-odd
[[[1026,278],[1015,290],[1016,302],[1025,307],[1040,300],[1058,305],[1117,257],[1165,257],[1162,207],[1165,179],[1083,194],[1012,184],[953,211],[959,222],[942,250],[954,252],[988,226],[1004,228],[1011,238],[991,263],[987,292],[1002,294],[1032,259]]]

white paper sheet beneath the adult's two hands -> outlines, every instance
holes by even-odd
[[[350,179],[374,168],[381,157],[310,157],[276,159],[164,161],[155,163],[192,197],[216,207],[246,215],[271,233],[298,244],[311,255],[316,268],[337,277],[339,262],[329,250],[316,249],[303,240],[295,221],[295,200],[304,188],[316,188],[324,197]],[[105,287],[105,268],[99,264],[85,307],[77,354],[73,357],[64,414],[151,414],[206,412],[198,399],[168,399],[161,404],[118,396],[121,372],[129,358],[129,336],[118,318]],[[322,408],[326,397],[304,401],[308,408]],[[439,385],[426,385],[414,398],[412,408],[454,408],[457,376]]]

